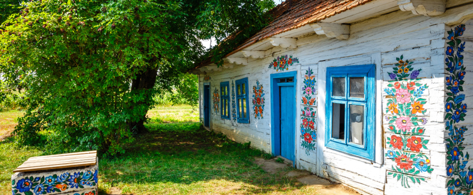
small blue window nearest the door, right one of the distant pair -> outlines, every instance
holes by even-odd
[[[250,123],[248,110],[248,78],[235,81],[236,85],[236,121],[239,123]]]

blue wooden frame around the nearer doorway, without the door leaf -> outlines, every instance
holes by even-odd
[[[294,86],[294,116],[297,118],[297,71],[290,71],[290,72],[283,72],[283,73],[274,73],[270,75],[271,80],[271,153],[273,156],[281,155],[281,143],[280,143],[280,121],[275,119],[276,116],[279,116],[280,112],[280,100],[279,100],[279,86],[278,86],[278,79],[286,78],[286,77],[293,77],[294,82],[292,86]],[[285,84],[286,86],[290,86],[290,84]],[[297,120],[297,119],[296,119]],[[296,121],[294,121],[296,124]],[[297,138],[296,138],[296,128],[294,128],[294,157],[297,157]],[[279,141],[277,141],[279,140]],[[297,159],[297,158],[296,158]],[[296,163],[296,159],[294,159],[294,164]]]

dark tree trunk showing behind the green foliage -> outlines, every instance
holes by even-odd
[[[156,83],[157,76],[158,71],[156,69],[147,68],[145,72],[138,75],[136,79],[133,79],[133,81],[131,82],[131,93],[140,93],[140,91],[142,90],[148,91],[145,93],[145,100],[142,102],[136,102],[136,104],[146,104],[151,102],[150,100],[153,98],[153,94],[149,91],[153,89]],[[151,106],[152,105],[148,105],[148,108]],[[141,119],[138,122],[131,122],[128,124],[133,133],[142,134],[149,132],[148,129],[144,126],[147,113],[148,110],[146,110],[145,114],[141,116]]]

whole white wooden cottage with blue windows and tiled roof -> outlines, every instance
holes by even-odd
[[[473,195],[473,0],[286,0],[202,63],[200,117],[369,195]]]

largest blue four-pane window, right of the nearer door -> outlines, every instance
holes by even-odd
[[[325,146],[374,160],[375,65],[327,68]]]

